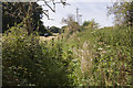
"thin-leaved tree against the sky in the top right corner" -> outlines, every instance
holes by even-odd
[[[114,14],[116,24],[133,24],[133,1],[120,0],[108,7],[108,15]]]

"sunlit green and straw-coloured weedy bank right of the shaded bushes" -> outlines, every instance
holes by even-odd
[[[115,26],[100,30],[88,29],[78,33],[71,42],[68,41],[76,48],[73,52],[79,59],[74,62],[76,67],[73,72],[73,85],[132,86],[132,28]],[[82,52],[78,53],[78,51]],[[91,53],[88,54],[88,51]],[[91,63],[86,66],[89,72],[80,68],[85,67],[85,63],[82,65],[84,61],[82,58],[85,63]]]

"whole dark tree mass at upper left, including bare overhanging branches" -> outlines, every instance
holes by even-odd
[[[37,0],[38,2],[39,0]],[[55,2],[55,0],[47,1],[42,0],[51,11],[55,12],[55,4],[62,3],[66,6],[66,2],[60,0]],[[8,30],[9,26],[13,26],[14,22],[20,23],[23,22],[29,35],[35,31],[45,30],[42,24],[41,14],[45,14],[49,18],[49,10],[43,10],[37,2],[3,2],[3,32]],[[49,4],[52,2],[53,8]]]

